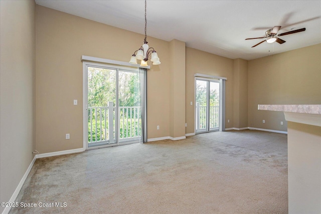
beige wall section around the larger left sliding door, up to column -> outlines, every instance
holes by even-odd
[[[41,6],[36,12],[36,148],[40,153],[81,148],[81,56],[128,62],[144,37]],[[147,41],[162,62],[147,73],[147,137],[170,136],[170,44]]]

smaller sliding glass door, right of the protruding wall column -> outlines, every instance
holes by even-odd
[[[219,130],[220,83],[215,80],[196,79],[195,132]]]

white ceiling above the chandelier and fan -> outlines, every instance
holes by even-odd
[[[36,4],[144,34],[143,0],[36,0]],[[283,44],[264,42],[251,48],[264,39],[245,40],[263,37],[274,26],[282,26],[278,34],[306,31],[280,37]],[[147,0],[147,41],[149,36],[177,39],[230,59],[256,59],[321,43],[321,1]]]

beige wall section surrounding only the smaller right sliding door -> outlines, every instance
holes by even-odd
[[[225,127],[233,127],[233,60],[214,54],[186,48],[186,133],[194,133],[194,108],[195,108],[195,82],[194,74],[208,74],[226,77],[226,110]],[[191,105],[193,102],[193,105]],[[228,123],[227,121],[230,120]]]

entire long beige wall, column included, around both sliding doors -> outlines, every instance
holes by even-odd
[[[36,148],[40,153],[81,148],[80,57],[126,62],[142,44],[143,35],[41,6],[36,6],[36,12]],[[226,127],[233,127],[233,60],[185,49],[185,43],[178,40],[147,37],[147,41],[162,62],[147,72],[147,138],[184,137],[194,132],[194,73],[228,78],[226,117],[230,123]],[[185,106],[189,112],[185,112]],[[65,140],[66,133],[70,133],[69,140]]]

